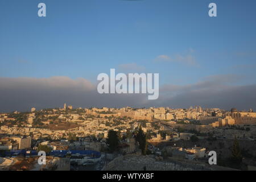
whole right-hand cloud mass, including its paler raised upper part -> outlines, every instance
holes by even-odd
[[[193,105],[230,109],[256,109],[256,85],[237,85],[243,77],[215,75],[190,85],[164,85],[158,105],[186,108]]]

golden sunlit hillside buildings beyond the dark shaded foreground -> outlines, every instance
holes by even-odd
[[[214,134],[222,139],[233,139],[234,135],[240,139],[256,139],[256,113],[252,110],[238,111],[233,108],[223,111],[202,109],[200,106],[189,109],[73,109],[65,104],[60,109],[37,111],[33,107],[30,113],[3,113],[0,114],[0,124],[0,151],[36,150],[40,145],[48,146],[53,151],[106,151],[108,131],[114,130],[123,137],[119,151],[131,154],[138,149],[134,132],[140,126],[151,143],[191,140],[196,133],[205,133],[204,136]],[[184,159],[200,159],[206,155],[204,147],[172,147],[170,151],[172,156]],[[74,157],[74,160],[78,158]]]

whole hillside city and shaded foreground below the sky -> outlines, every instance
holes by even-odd
[[[152,171],[183,171],[188,167],[193,171],[255,170],[256,113],[252,110],[200,106],[189,110],[73,110],[65,103],[59,109],[32,107],[27,113],[3,113],[0,124],[0,170],[130,171],[145,166]],[[42,158],[38,155],[44,152],[49,166],[40,166]],[[51,168],[56,162],[53,156],[64,163]],[[176,161],[181,166],[173,166]],[[199,163],[202,166],[198,167]]]

